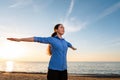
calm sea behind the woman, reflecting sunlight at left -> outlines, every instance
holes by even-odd
[[[48,62],[0,62],[0,72],[47,73]],[[117,74],[120,62],[68,62],[69,74]]]

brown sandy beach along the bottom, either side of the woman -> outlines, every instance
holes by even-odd
[[[24,73],[13,72],[6,73],[0,72],[0,80],[47,80],[46,74],[40,73]],[[73,75],[69,74],[69,80],[120,80],[119,75]]]

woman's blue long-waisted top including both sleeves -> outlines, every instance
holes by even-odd
[[[63,38],[55,37],[34,37],[34,42],[40,42],[51,45],[51,58],[48,69],[66,70],[67,69],[67,50],[72,45]]]

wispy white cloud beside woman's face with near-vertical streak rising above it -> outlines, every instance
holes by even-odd
[[[61,20],[61,23],[65,26],[66,32],[77,32],[86,26],[86,22],[80,22],[75,17],[70,17],[74,8],[75,1],[71,0],[68,12],[66,13],[65,19]]]

